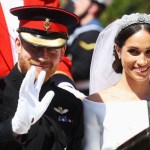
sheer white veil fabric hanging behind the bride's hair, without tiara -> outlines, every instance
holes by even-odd
[[[114,38],[119,25],[120,20],[116,20],[98,36],[90,69],[90,94],[105,89],[120,79],[121,75],[115,73],[112,68]]]

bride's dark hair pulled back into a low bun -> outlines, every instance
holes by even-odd
[[[148,32],[150,32],[150,25],[149,24],[132,24],[126,28],[124,28],[115,38],[115,44],[119,47],[121,50],[125,41],[132,36],[133,34],[137,33],[141,29],[144,29]],[[114,56],[115,60],[112,64],[113,69],[115,70],[116,73],[122,73],[122,63],[121,60],[119,59],[116,50],[114,49]]]

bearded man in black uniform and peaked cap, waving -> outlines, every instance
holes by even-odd
[[[58,0],[25,0],[11,13],[20,20],[18,63],[0,80],[0,149],[47,150],[57,140],[80,150],[82,102],[51,80],[65,53],[67,27],[78,17]]]

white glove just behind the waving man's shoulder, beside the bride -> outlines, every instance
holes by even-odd
[[[61,82],[61,83],[58,84],[58,87],[74,94],[74,96],[76,96],[77,98],[79,98],[81,100],[83,100],[86,97],[86,95],[84,95],[80,91],[76,90],[74,88],[74,86],[69,82]]]

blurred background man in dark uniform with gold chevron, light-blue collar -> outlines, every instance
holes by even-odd
[[[80,26],[70,35],[67,55],[72,60],[72,76],[77,88],[89,93],[90,64],[95,42],[103,29],[99,17],[106,7],[105,0],[76,0],[74,13],[80,18]]]

